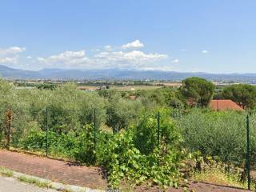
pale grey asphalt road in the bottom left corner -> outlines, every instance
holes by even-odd
[[[25,182],[19,182],[16,178],[0,176],[0,192],[57,192],[57,190],[39,188]]]

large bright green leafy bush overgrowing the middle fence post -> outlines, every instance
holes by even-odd
[[[109,174],[109,182],[117,187],[122,179],[135,184],[150,182],[162,187],[178,186],[182,159],[180,134],[169,111],[162,110],[161,143],[157,142],[155,113],[145,114],[138,126],[114,134],[107,142],[102,165]]]

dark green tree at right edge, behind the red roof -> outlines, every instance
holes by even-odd
[[[232,85],[223,90],[223,98],[237,102],[243,108],[254,108],[256,104],[256,87],[251,85]]]

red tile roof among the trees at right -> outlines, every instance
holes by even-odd
[[[240,110],[243,111],[241,106],[231,100],[212,100],[210,102],[212,110]]]

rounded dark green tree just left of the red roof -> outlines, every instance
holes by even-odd
[[[180,92],[197,106],[208,106],[214,94],[214,84],[204,78],[186,78],[182,81]]]

